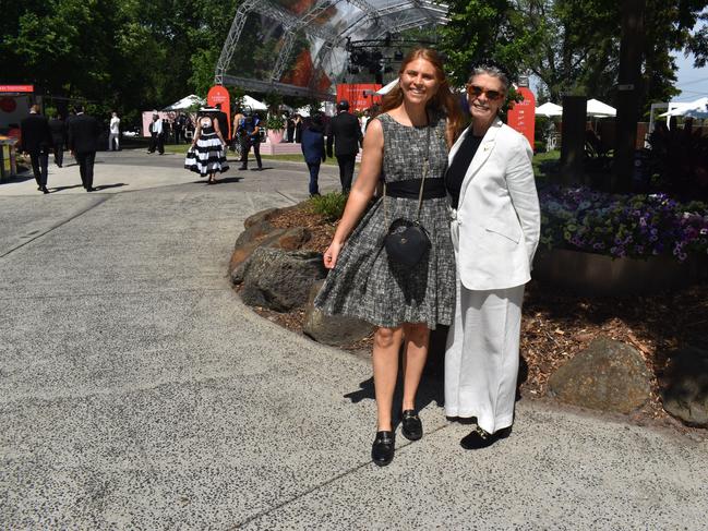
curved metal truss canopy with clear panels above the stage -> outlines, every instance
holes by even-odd
[[[310,0],[305,10],[303,2],[298,8],[292,3],[242,1],[216,63],[216,84],[332,100],[334,94],[322,82],[332,86],[344,79],[348,40],[391,38],[406,29],[447,22],[447,5],[436,0]],[[240,45],[247,24],[257,25],[259,36],[277,38],[273,57],[252,72],[235,65],[243,55],[253,58],[253,50]],[[302,56],[303,64],[293,65]]]

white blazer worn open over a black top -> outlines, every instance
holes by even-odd
[[[468,128],[449,150],[452,164]],[[467,168],[453,234],[457,270],[470,290],[520,286],[531,278],[541,213],[526,137],[497,118]]]

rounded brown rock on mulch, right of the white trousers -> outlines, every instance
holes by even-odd
[[[631,413],[649,399],[650,381],[636,349],[601,337],[551,375],[549,391],[574,406]]]

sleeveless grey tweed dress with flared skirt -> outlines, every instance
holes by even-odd
[[[377,117],[384,133],[383,179],[386,182],[422,178],[428,134],[425,126],[407,126],[388,114]],[[431,120],[430,171],[443,179],[447,168],[445,119]],[[416,219],[417,198],[386,197],[387,219]],[[314,303],[329,315],[348,315],[394,328],[425,323],[430,329],[449,325],[455,305],[455,254],[449,236],[447,197],[424,200],[420,222],[431,249],[411,269],[388,260],[384,237],[383,198],[379,198],[351,232]]]

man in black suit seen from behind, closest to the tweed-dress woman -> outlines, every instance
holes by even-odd
[[[348,194],[353,178],[353,167],[359,147],[361,146],[361,128],[356,116],[349,113],[349,101],[343,99],[337,104],[338,114],[329,120],[327,131],[327,156],[332,157],[332,145],[334,155],[339,165],[339,181],[341,193]]]

